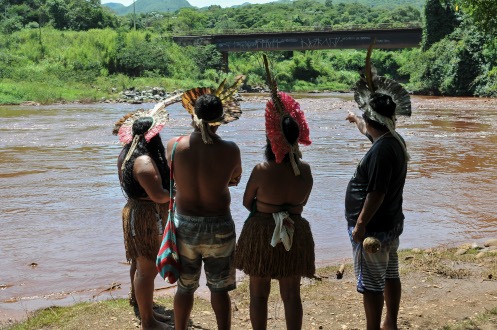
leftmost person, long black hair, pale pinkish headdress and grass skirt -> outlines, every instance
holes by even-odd
[[[124,144],[118,173],[127,203],[122,211],[126,259],[131,262],[130,303],[139,309],[142,329],[165,329],[168,318],[153,310],[155,260],[168,216],[169,167],[159,132],[168,120],[165,107],[138,110],[119,120],[113,133]]]

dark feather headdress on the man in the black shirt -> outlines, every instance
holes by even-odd
[[[376,40],[376,39],[375,39]],[[409,154],[400,136],[395,132],[396,116],[411,116],[411,97],[407,90],[395,80],[378,76],[376,68],[371,63],[371,54],[375,40],[371,43],[366,54],[366,65],[360,74],[360,79],[354,88],[354,99],[364,115],[388,128],[390,133],[399,140],[404,148],[404,153],[409,159]],[[373,110],[370,101],[378,94],[388,95],[395,103],[395,112],[392,117],[386,117]]]

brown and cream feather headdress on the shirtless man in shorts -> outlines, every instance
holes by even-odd
[[[181,98],[183,108],[185,108],[186,111],[193,116],[195,125],[202,133],[202,140],[204,143],[212,143],[212,138],[209,136],[210,130],[208,126],[227,124],[237,120],[242,115],[240,104],[234,96],[236,92],[238,92],[238,89],[243,84],[244,80],[245,76],[240,75],[236,77],[235,82],[231,86],[226,86],[226,79],[224,79],[215,90],[209,87],[197,87],[183,93]],[[199,119],[195,114],[195,102],[201,95],[204,94],[216,95],[221,100],[221,103],[223,104],[223,114],[219,118],[205,121],[203,119]]]

